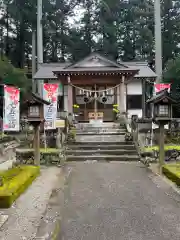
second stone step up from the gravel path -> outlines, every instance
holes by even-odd
[[[136,155],[137,152],[135,149],[94,149],[94,150],[67,150],[66,151],[67,155],[74,155],[74,156],[94,156],[94,155]]]

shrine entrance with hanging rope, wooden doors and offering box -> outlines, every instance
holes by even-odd
[[[117,102],[114,86],[78,86],[74,89],[74,104],[79,105],[79,122],[114,121],[113,104]]]

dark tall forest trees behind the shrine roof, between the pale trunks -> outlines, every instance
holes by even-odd
[[[2,0],[1,55],[15,67],[30,65],[31,36],[36,28],[34,0]],[[180,2],[162,0],[163,65],[175,58],[180,42]],[[91,51],[114,60],[154,64],[153,0],[43,1],[44,61],[77,61]]]

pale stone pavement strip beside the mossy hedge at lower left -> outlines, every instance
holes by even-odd
[[[41,175],[13,206],[0,212],[9,216],[0,229],[1,240],[34,239],[60,174],[59,168],[43,168]]]

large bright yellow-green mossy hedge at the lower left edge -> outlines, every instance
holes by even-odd
[[[36,166],[19,166],[0,172],[3,179],[0,186],[0,208],[9,208],[40,174]]]

